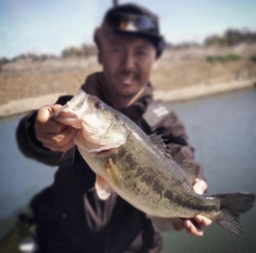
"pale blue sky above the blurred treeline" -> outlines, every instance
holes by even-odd
[[[130,1],[119,0],[120,4]],[[256,31],[255,0],[133,0],[155,12],[166,41],[203,42],[228,28]],[[0,0],[0,58],[93,43],[112,0]]]

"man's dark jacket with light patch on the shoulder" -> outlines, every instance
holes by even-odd
[[[102,73],[89,76],[82,88],[111,105],[104,93]],[[61,97],[56,103],[63,105],[70,99]],[[193,161],[182,123],[162,103],[153,100],[150,83],[122,112],[145,133],[162,134],[175,160]],[[31,202],[35,215],[41,217],[37,231],[41,252],[160,252],[161,234],[143,212],[115,194],[106,201],[98,199],[95,173],[76,147],[62,153],[42,146],[35,136],[35,116],[36,111],[20,121],[16,134],[19,148],[38,162],[59,166],[53,186]],[[198,177],[204,179],[200,169]]]

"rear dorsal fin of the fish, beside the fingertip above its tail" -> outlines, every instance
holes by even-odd
[[[199,166],[195,163],[190,162],[189,160],[183,160],[182,162],[177,163],[182,171],[184,172],[190,188],[193,188],[195,180],[198,176]]]

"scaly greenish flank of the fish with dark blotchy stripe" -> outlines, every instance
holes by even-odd
[[[134,205],[140,203],[153,216],[186,218],[218,212],[219,202],[211,197],[205,201],[205,196],[191,191],[179,166],[163,156],[145,134],[133,124],[125,128],[127,141],[114,156],[123,178],[121,196]],[[196,211],[191,212],[191,206]]]

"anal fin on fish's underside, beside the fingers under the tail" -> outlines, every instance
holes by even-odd
[[[179,217],[173,218],[161,218],[161,217],[150,217],[154,226],[161,232],[167,232],[172,230],[180,231],[184,228],[183,220]]]

